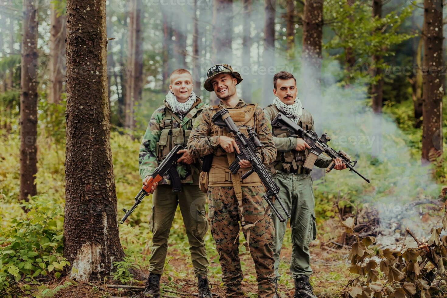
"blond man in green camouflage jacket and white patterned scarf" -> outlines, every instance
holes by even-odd
[[[164,105],[156,109],[149,121],[139,150],[139,173],[143,184],[164,157],[176,145],[183,145],[190,137],[192,124],[206,105],[193,92],[193,79],[186,69],[177,69],[169,77],[169,92]],[[181,193],[174,193],[169,176],[152,187],[152,214],[149,226],[153,233],[146,294],[160,297],[160,276],[168,249],[172,221],[180,205],[181,215],[190,244],[194,274],[198,278],[198,297],[211,298],[208,285],[208,259],[203,237],[208,230],[205,216],[205,195],[198,189],[199,164],[186,149],[178,153],[177,172],[181,179]]]

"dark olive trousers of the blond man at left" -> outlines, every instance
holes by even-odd
[[[209,265],[203,240],[208,230],[208,220],[205,216],[206,195],[198,189],[198,185],[181,185],[181,187],[180,193],[174,193],[171,185],[159,185],[152,195],[149,227],[153,235],[149,272],[163,273],[169,231],[179,204],[190,243],[194,275],[206,277]]]

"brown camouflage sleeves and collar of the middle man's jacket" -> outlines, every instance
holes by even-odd
[[[241,109],[247,104],[243,100],[239,100],[239,103],[234,107],[230,108],[223,104],[222,101],[219,102],[219,107],[221,109]],[[273,143],[272,137],[272,126],[270,121],[264,117],[264,112],[260,107],[256,108],[257,117],[257,134],[258,139],[261,141],[263,146],[257,151],[262,162],[264,164],[270,164],[276,158],[276,147]],[[214,153],[216,148],[219,147],[219,136],[209,136],[209,123],[211,121],[212,111],[210,108],[206,108],[202,111],[200,116],[194,121],[194,128],[191,132],[190,139],[188,141],[188,153],[193,158],[203,157],[210,153]]]

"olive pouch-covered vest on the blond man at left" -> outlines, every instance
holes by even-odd
[[[173,113],[168,107],[164,109],[163,120],[160,121],[160,139],[156,143],[155,152],[158,158],[158,161],[162,161],[166,155],[172,150],[173,147],[177,145],[182,145],[186,147],[188,143],[188,139],[190,138],[191,130],[193,127],[193,121],[198,117],[198,112],[204,109],[204,106],[201,105],[200,108],[197,106],[201,103],[200,99],[196,101],[196,103],[191,107],[190,111],[186,113],[185,116],[191,114],[191,118],[187,120],[186,123],[180,120],[180,118]],[[183,124],[183,125],[182,125]],[[186,124],[187,128],[183,129],[183,126]],[[175,127],[175,128],[174,128]]]

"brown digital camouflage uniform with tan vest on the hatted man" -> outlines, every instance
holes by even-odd
[[[248,169],[240,170],[237,174],[232,174],[228,170],[228,165],[235,159],[235,154],[227,154],[219,147],[219,136],[230,136],[230,134],[211,122],[215,112],[223,108],[228,109],[236,125],[245,123],[247,126],[255,127],[258,138],[263,144],[257,151],[262,162],[270,164],[274,160],[276,149],[270,122],[266,121],[261,108],[247,105],[242,100],[235,108],[229,108],[220,102],[219,106],[204,109],[194,122],[194,129],[188,141],[188,152],[194,158],[214,154],[208,184],[209,218],[211,219],[211,234],[219,252],[226,296],[245,297],[241,288],[243,274],[239,260],[240,227],[238,223],[243,218],[245,227],[258,221],[243,232],[245,239],[248,239],[249,250],[255,263],[259,297],[272,298],[275,290],[273,281],[274,227],[271,222],[271,211],[265,214],[267,204],[261,197],[264,188],[256,173],[245,180],[240,180],[240,175]],[[240,126],[240,131],[248,137],[246,127]]]

